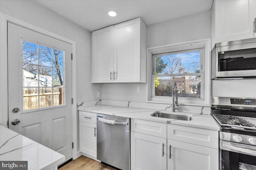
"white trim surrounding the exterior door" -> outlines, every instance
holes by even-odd
[[[77,110],[76,110],[76,42],[40,27],[36,27],[30,23],[24,22],[12,16],[8,16],[0,12],[0,124],[8,127],[8,55],[7,55],[7,22],[20,25],[32,31],[42,33],[49,37],[64,41],[72,45],[72,98],[74,104],[72,105],[72,137],[74,142],[73,159],[80,156],[77,150]],[[71,57],[71,56],[70,56]],[[71,101],[70,101],[71,102]],[[70,145],[72,145],[70,143]]]

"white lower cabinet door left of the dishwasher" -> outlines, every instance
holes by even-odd
[[[79,121],[79,148],[80,152],[97,157],[97,137],[95,123]]]

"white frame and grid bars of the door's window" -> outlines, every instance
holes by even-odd
[[[52,106],[47,106],[47,107],[40,107],[40,88],[43,88],[44,86],[40,86],[39,84],[39,77],[38,77],[38,86],[30,86],[30,87],[24,87],[23,86],[23,41],[27,41],[27,42],[30,42],[30,43],[34,43],[36,45],[38,45],[38,64],[30,64],[30,65],[34,65],[34,66],[38,66],[38,69],[39,69],[39,66],[43,66],[43,65],[40,65],[39,64],[39,46],[42,45],[44,47],[50,47],[52,49],[56,49],[56,50],[60,50],[60,51],[63,51],[63,68],[60,68],[63,70],[63,104],[60,104],[60,105],[56,105],[54,106],[53,104],[53,93],[54,93],[54,82],[53,82],[53,69],[56,68],[55,66],[53,66],[53,61],[52,61],[52,66],[45,66],[47,68],[52,68],[52,86],[49,86],[49,88],[52,88]],[[44,109],[54,109],[54,108],[57,108],[57,107],[66,107],[66,62],[65,62],[65,57],[66,57],[66,50],[65,49],[60,49],[58,47],[53,47],[51,45],[46,45],[46,44],[43,44],[43,43],[40,43],[40,42],[36,42],[36,41],[33,41],[33,40],[30,40],[30,39],[26,39],[24,37],[20,37],[20,114],[23,114],[23,113],[29,113],[29,112],[32,112],[32,111],[40,111],[40,110],[44,110]],[[53,60],[53,54],[52,54],[52,60]],[[39,75],[39,72],[38,72],[38,75]],[[27,109],[27,110],[24,110],[23,109],[23,103],[24,103],[24,97],[23,97],[23,88],[38,88],[38,108],[35,108],[35,109]]]

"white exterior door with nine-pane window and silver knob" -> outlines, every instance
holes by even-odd
[[[8,126],[66,160],[72,158],[71,49],[8,23]]]

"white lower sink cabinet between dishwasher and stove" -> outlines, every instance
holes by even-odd
[[[131,170],[219,169],[218,131],[131,119],[130,140]]]

